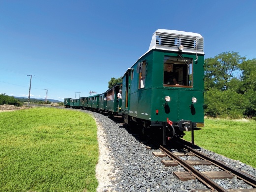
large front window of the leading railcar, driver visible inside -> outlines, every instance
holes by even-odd
[[[192,58],[164,57],[163,86],[192,87]]]

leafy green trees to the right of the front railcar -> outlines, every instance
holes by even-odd
[[[256,119],[256,59],[224,52],[204,62],[205,114]]]

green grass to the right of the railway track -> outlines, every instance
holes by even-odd
[[[191,133],[184,139],[191,141]],[[256,122],[205,119],[205,127],[194,131],[196,145],[256,168]]]

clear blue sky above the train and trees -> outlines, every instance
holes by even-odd
[[[64,100],[103,93],[157,29],[200,33],[205,58],[256,58],[255,0],[0,0],[0,93]]]

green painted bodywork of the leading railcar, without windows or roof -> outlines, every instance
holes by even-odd
[[[177,52],[153,50],[140,58],[131,68],[132,79],[127,82],[128,76],[123,77],[123,96],[125,89],[129,89],[128,108],[122,107],[123,112],[130,116],[151,120],[171,121],[191,120],[192,122],[204,122],[203,91],[204,91],[204,56],[195,54],[183,54],[184,58],[192,58],[192,87],[163,85],[164,59],[165,56],[178,57]],[[139,73],[137,72],[139,62],[147,60],[147,75],[145,76],[145,87],[139,89]],[[165,101],[165,96],[170,96],[171,101]],[[192,104],[191,98],[196,97],[197,102]],[[123,97],[124,98],[124,97]],[[125,98],[126,99],[126,98]],[[158,110],[158,114],[156,114]]]

